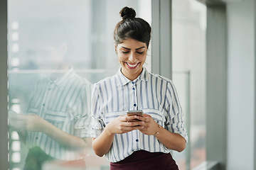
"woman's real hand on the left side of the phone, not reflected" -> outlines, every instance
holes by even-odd
[[[144,128],[144,121],[138,121],[139,117],[142,118],[138,115],[120,115],[108,123],[105,130],[110,132],[110,134],[123,134],[132,130],[142,130]]]

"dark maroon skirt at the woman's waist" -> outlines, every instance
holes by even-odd
[[[178,170],[171,154],[139,150],[120,162],[110,162],[110,170]]]

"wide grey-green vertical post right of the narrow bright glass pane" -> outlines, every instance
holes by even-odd
[[[227,157],[228,57],[226,15],[225,6],[207,6],[206,161],[208,164],[212,164],[208,169],[225,169]],[[218,122],[218,126],[216,126],[216,122]]]

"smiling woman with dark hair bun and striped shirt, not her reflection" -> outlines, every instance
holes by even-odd
[[[183,151],[187,135],[176,89],[171,80],[143,67],[149,23],[135,18],[133,8],[122,8],[120,15],[114,43],[121,69],[92,91],[92,147],[107,156],[112,170],[178,169],[170,152]],[[144,115],[127,115],[137,110]]]

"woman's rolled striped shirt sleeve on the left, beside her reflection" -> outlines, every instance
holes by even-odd
[[[101,113],[101,106],[102,100],[100,98],[100,90],[97,88],[97,85],[94,85],[92,88],[92,107],[91,107],[91,114],[92,114],[92,130],[91,130],[91,137],[98,137],[102,133],[105,128],[105,123],[103,122],[102,113]]]

